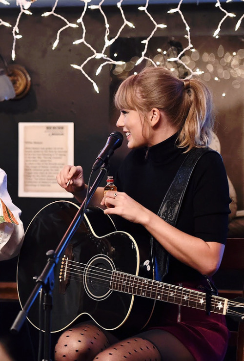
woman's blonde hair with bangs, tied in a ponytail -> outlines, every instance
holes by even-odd
[[[131,75],[114,98],[118,109],[136,110],[144,121],[152,108],[162,110],[178,129],[178,147],[206,147],[212,139],[212,96],[200,79],[180,80],[164,67],[149,66]]]

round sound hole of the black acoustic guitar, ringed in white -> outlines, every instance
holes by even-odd
[[[112,271],[115,269],[111,259],[105,255],[96,255],[88,262],[84,273],[84,288],[93,299],[108,297]]]

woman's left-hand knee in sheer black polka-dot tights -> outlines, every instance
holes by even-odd
[[[55,347],[55,361],[83,361],[108,346],[108,340],[95,325],[84,323],[63,332]]]

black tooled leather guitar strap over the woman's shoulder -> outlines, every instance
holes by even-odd
[[[192,171],[203,154],[209,151],[215,150],[208,147],[191,149],[169,186],[158,215],[172,226],[176,225],[183,196]],[[151,236],[151,252],[154,263],[155,279],[157,281],[162,281],[163,277],[168,273],[170,255],[153,236]]]

